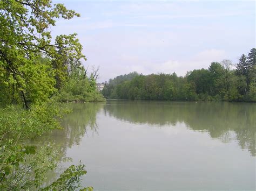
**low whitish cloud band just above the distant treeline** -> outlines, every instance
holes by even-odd
[[[105,68],[104,72],[109,72],[114,74],[111,78],[117,75],[127,74],[133,71],[142,73],[144,75],[165,73],[172,74],[177,73],[179,76],[184,76],[186,72],[193,69],[208,68],[211,62],[221,61],[226,57],[225,51],[221,49],[206,49],[204,51],[198,52],[187,59],[180,60],[166,60],[164,62],[150,62],[140,59],[138,56],[121,55],[120,63],[126,63],[126,65],[113,64],[110,65],[111,69]],[[105,79],[105,75],[101,76],[101,79]]]

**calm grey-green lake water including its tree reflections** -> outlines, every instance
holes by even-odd
[[[95,190],[255,190],[255,103],[69,104],[53,142]]]

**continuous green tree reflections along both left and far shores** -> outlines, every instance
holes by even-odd
[[[185,123],[187,128],[208,132],[211,138],[224,143],[235,139],[242,149],[256,155],[255,103],[109,101],[66,106],[72,112],[62,119],[63,129],[53,130],[31,141],[37,145],[56,144],[61,160],[66,160],[67,148],[79,145],[87,131],[98,134],[96,115],[102,108],[105,116],[134,124],[170,128]]]

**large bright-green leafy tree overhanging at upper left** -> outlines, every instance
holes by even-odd
[[[59,35],[51,43],[49,30],[56,18],[79,14],[50,0],[4,0],[0,10],[0,100],[22,102],[29,109],[29,102],[42,103],[52,96],[55,79],[57,85],[65,80],[68,58],[85,58],[76,34]]]

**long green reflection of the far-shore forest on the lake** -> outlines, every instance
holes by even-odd
[[[184,122],[194,131],[207,131],[211,138],[230,142],[235,139],[242,149],[255,156],[255,103],[228,102],[154,102],[110,101],[105,115],[135,124],[158,126]]]

